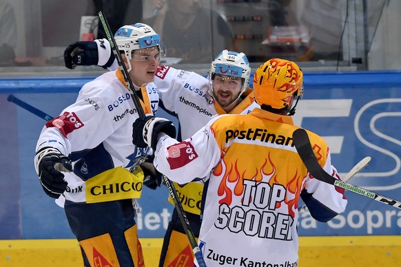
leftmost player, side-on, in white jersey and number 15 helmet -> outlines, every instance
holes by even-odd
[[[154,115],[158,34],[136,23],[120,28],[115,40],[143,111]],[[143,186],[139,164],[151,151],[132,144],[138,111],[131,98],[121,71],[107,72],[83,85],[76,102],[46,123],[37,142],[39,181],[64,207],[85,266],[144,266],[133,200]]]

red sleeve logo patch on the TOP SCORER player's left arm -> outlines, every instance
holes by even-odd
[[[167,153],[167,162],[169,162],[170,169],[172,170],[183,167],[198,158],[198,154],[191,143],[185,141],[167,147]]]

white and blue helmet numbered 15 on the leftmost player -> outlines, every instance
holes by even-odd
[[[132,59],[134,50],[157,47],[158,51],[161,52],[160,56],[163,56],[164,51],[160,36],[147,24],[135,23],[133,25],[124,25],[114,34],[114,39],[116,40],[117,47],[119,47],[119,51],[123,51],[125,56],[127,56],[130,70],[130,60]]]

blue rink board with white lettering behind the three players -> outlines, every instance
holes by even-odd
[[[57,116],[92,78],[0,80],[0,239],[74,238],[63,209],[43,193],[34,173],[34,146],[45,121],[9,103],[8,94]],[[356,162],[371,156],[369,167],[350,182],[397,200],[401,200],[400,81],[401,72],[306,72],[305,95],[294,117],[297,125],[327,140],[339,173],[347,173]],[[171,118],[163,111],[158,115]],[[300,236],[375,240],[400,235],[400,209],[355,193],[346,195],[347,211],[327,224],[315,222],[307,214],[300,216]],[[163,237],[173,209],[167,196],[165,188],[143,191],[140,237]]]

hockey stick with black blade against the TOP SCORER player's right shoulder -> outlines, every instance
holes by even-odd
[[[296,150],[298,151],[298,154],[302,159],[302,162],[304,162],[305,166],[307,167],[309,173],[311,173],[313,178],[316,178],[322,182],[327,182],[328,184],[333,184],[347,191],[363,195],[364,197],[369,197],[372,200],[376,200],[378,202],[401,209],[401,202],[398,200],[393,200],[390,197],[379,195],[377,193],[363,189],[362,187],[349,184],[348,182],[337,180],[336,178],[333,178],[333,176],[329,175],[329,173],[327,173],[324,169],[322,169],[322,167],[320,167],[320,164],[316,159],[315,154],[313,153],[311,142],[305,129],[296,129],[296,131],[294,131],[294,133],[292,134],[292,139]]]

